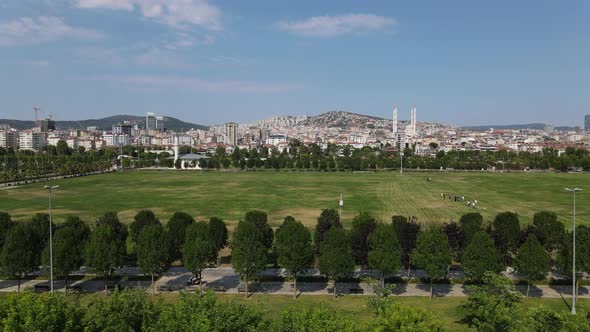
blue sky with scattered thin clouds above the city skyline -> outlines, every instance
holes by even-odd
[[[0,118],[581,125],[589,59],[584,0],[0,0]]]

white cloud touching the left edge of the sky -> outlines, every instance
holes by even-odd
[[[60,17],[21,17],[0,22],[0,46],[27,45],[60,39],[96,40],[104,35],[96,30],[74,27]]]

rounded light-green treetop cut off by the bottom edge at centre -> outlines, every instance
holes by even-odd
[[[358,327],[354,320],[325,307],[289,309],[281,313],[273,331],[277,332],[352,332]]]

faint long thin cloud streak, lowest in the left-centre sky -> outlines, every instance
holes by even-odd
[[[183,76],[125,76],[106,77],[106,80],[151,88],[187,89],[196,92],[276,93],[293,88],[291,85],[263,84],[252,81],[208,81]]]

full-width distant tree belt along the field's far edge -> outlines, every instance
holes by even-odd
[[[0,182],[31,179],[50,175],[71,175],[102,171],[114,163],[125,168],[167,167],[174,164],[168,152],[155,153],[144,146],[103,147],[86,151],[83,147],[71,149],[61,140],[57,146],[47,145],[40,151],[14,150],[0,147]],[[163,149],[163,148],[162,148]],[[122,150],[122,151],[121,151]],[[449,151],[438,150],[433,144],[432,154],[419,156],[415,147],[402,151],[390,145],[354,148],[349,145],[328,144],[325,149],[317,144],[303,145],[294,140],[289,148],[234,148],[230,154],[223,147],[214,152],[200,151],[190,146],[179,148],[181,154],[204,153],[209,159],[201,159],[199,166],[207,169],[242,170],[311,170],[311,171],[377,171],[399,168],[400,152],[404,152],[404,167],[408,169],[481,170],[496,167],[497,170],[568,171],[571,168],[590,170],[590,153],[583,148],[568,147],[559,154],[556,149],[544,148],[540,152],[513,151]],[[117,161],[122,152],[128,158]]]

